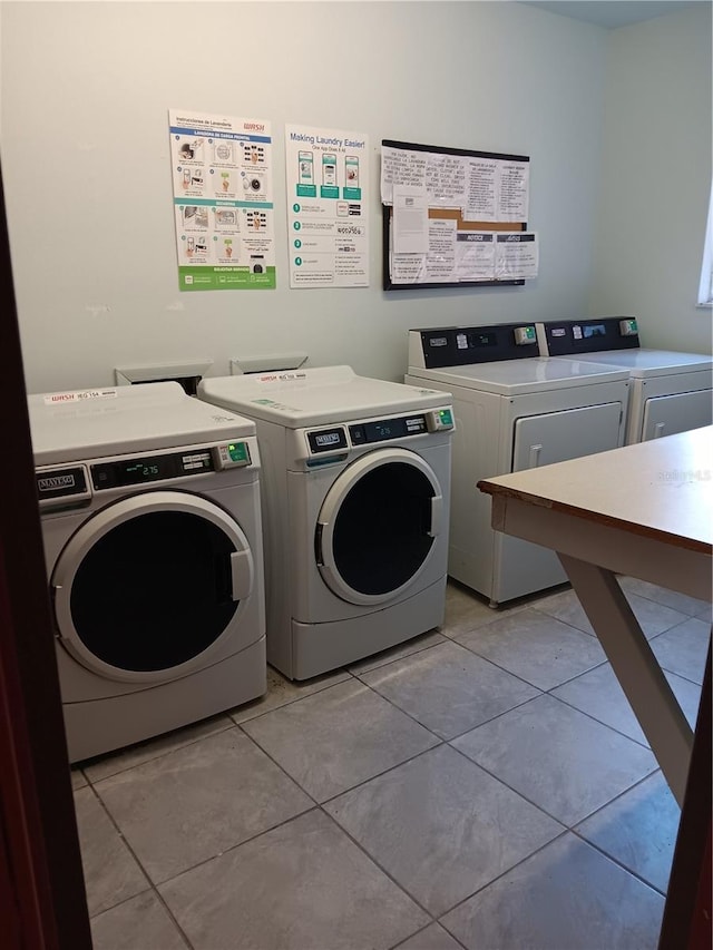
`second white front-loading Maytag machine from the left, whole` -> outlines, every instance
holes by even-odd
[[[305,679],[442,623],[452,413],[349,366],[205,379],[255,420],[267,659]]]

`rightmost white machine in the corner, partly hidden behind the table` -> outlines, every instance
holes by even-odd
[[[631,316],[537,324],[540,350],[626,370],[631,389],[626,444],[713,422],[713,358],[639,345]]]

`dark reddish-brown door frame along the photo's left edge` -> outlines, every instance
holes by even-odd
[[[0,207],[0,942],[91,950]]]

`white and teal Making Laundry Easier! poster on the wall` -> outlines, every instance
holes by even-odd
[[[369,286],[369,137],[285,126],[291,287]]]

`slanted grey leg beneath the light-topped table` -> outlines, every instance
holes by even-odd
[[[662,772],[683,803],[693,732],[612,571],[558,554]]]

